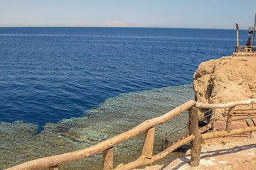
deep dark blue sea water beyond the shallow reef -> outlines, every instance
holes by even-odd
[[[198,64],[235,45],[236,30],[0,28],[0,121],[43,126],[119,94],[192,84]]]

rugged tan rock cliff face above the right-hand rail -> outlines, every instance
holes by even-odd
[[[195,100],[228,103],[256,98],[256,56],[202,62],[193,76]]]

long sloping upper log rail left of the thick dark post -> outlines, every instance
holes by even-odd
[[[18,164],[16,166],[9,168],[8,170],[43,169],[50,166],[56,166],[56,165],[65,164],[68,162],[75,162],[80,159],[85,159],[86,157],[91,157],[92,155],[100,153],[106,149],[109,149],[114,145],[127,141],[132,137],[136,137],[142,132],[148,130],[149,128],[153,128],[156,125],[161,125],[165,123],[167,120],[173,118],[179,113],[182,113],[183,111],[188,110],[188,108],[191,108],[191,106],[195,105],[195,103],[196,103],[195,101],[188,101],[183,105],[178,106],[177,108],[174,108],[174,110],[169,111],[164,115],[161,115],[156,118],[152,118],[150,120],[146,120],[140,125],[137,125],[136,127],[132,128],[131,130],[128,130],[127,132],[124,132],[120,135],[114,136],[108,140],[100,142],[99,144],[94,145],[92,147],[87,147],[86,149],[81,149],[76,152],[58,154],[51,157],[43,157],[43,158],[35,159],[29,162],[24,162],[23,164]]]

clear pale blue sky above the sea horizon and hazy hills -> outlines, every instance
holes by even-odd
[[[253,25],[256,1],[0,0],[0,26],[98,26],[241,29]]]

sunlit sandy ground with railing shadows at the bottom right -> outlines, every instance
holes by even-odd
[[[219,123],[219,126],[220,123]],[[233,123],[233,128],[247,127],[245,120]],[[206,140],[202,143],[200,166],[190,166],[190,150],[165,164],[146,166],[144,170],[256,170],[256,132]]]

